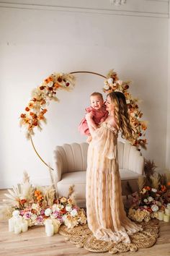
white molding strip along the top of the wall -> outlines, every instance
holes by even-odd
[[[49,0],[48,4],[45,0],[35,0],[34,4],[31,0],[6,0],[0,1],[0,8],[169,18],[169,0],[127,0],[118,7],[109,0]]]

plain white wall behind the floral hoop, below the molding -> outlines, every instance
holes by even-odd
[[[35,183],[50,182],[48,168],[19,128],[19,115],[32,89],[52,72],[106,75],[114,68],[120,79],[133,80],[130,92],[143,100],[143,119],[149,121],[143,155],[166,166],[169,20],[81,11],[0,5],[1,188],[20,182],[24,170]],[[89,94],[102,91],[103,80],[90,74],[76,78],[74,90],[58,93],[61,103],[50,104],[42,132],[35,131],[35,146],[47,163],[53,164],[55,145],[86,140],[77,126]]]

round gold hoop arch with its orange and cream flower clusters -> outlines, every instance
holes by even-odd
[[[32,91],[32,98],[24,109],[25,112],[20,115],[20,125],[26,128],[26,137],[31,140],[32,147],[42,163],[45,163],[45,166],[48,166],[48,168],[53,170],[53,168],[42,159],[35,148],[32,140],[32,135],[35,135],[34,129],[37,127],[42,130],[41,122],[43,121],[45,124],[47,122],[44,115],[48,111],[47,106],[50,101],[58,101],[58,98],[56,97],[57,90],[61,89],[69,91],[73,89],[76,80],[76,77],[74,77],[73,74],[78,73],[95,74],[99,77],[103,77],[105,79],[104,87],[102,88],[104,93],[111,93],[112,91],[120,91],[124,93],[130,114],[130,124],[135,132],[135,143],[133,145],[138,148],[146,148],[146,139],[143,139],[142,137],[145,136],[147,124],[146,121],[140,120],[143,113],[138,109],[138,99],[133,98],[132,95],[128,93],[130,81],[123,82],[120,80],[113,69],[109,71],[107,76],[90,71],[74,71],[68,74],[53,73]]]

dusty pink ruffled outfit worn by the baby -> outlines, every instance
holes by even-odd
[[[103,119],[102,121],[107,119],[108,111],[106,110],[106,106],[102,106],[102,108],[100,108],[99,110],[92,108],[90,106],[89,108],[85,108],[85,110],[86,110],[86,114],[92,112],[93,121],[97,125],[99,125],[99,123],[101,122],[101,119]],[[79,124],[78,129],[82,135],[90,135],[89,127],[85,118],[81,120],[81,123]]]

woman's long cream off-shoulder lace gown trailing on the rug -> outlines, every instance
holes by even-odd
[[[117,130],[103,122],[89,144],[86,171],[86,214],[99,240],[130,243],[142,230],[126,216],[117,159]]]

